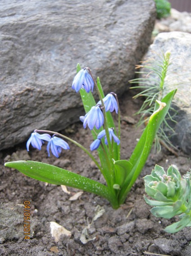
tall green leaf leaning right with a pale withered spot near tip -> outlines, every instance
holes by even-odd
[[[161,102],[166,104],[160,111],[155,111],[149,119],[149,122],[141,135],[140,140],[138,141],[134,151],[132,152],[132,156],[129,161],[132,163],[133,168],[131,171],[131,175],[129,175],[129,180],[127,180],[126,184],[123,185],[122,190],[120,191],[119,198],[120,203],[123,204],[124,200],[127,197],[128,192],[131,190],[132,185],[135,183],[137,177],[142,171],[146,160],[150,154],[150,150],[155,139],[155,135],[157,130],[159,129],[160,124],[163,122],[166,114],[168,113],[168,109],[170,108],[170,104],[173,100],[177,90],[173,90],[168,95],[166,95]],[[156,105],[159,106],[158,103]]]

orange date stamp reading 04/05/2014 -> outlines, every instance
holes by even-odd
[[[23,207],[23,231],[24,231],[24,239],[30,239],[31,234],[31,207],[30,207],[30,201],[24,201],[24,207]]]

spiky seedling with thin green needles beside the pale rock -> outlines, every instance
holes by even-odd
[[[141,115],[138,122],[138,126],[143,123],[147,123],[150,114],[153,113],[155,107],[155,101],[161,100],[165,94],[165,88],[168,83],[167,75],[169,72],[170,52],[161,53],[157,56],[157,61],[154,59],[148,59],[142,62],[142,65],[137,65],[136,69],[141,68],[141,71],[137,71],[136,74],[140,78],[136,78],[130,81],[132,84],[138,84],[137,86],[130,87],[130,89],[141,89],[141,91],[133,98],[144,97],[145,100],[136,114]],[[177,114],[173,107],[170,107],[164,122],[159,128],[155,137],[155,150],[160,152],[161,144],[165,145],[169,150],[175,148],[170,142],[169,137],[174,134],[174,130],[169,123],[175,123],[173,119]]]

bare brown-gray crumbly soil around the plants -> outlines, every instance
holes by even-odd
[[[139,109],[141,100],[132,100],[132,93],[128,90],[119,102],[123,119],[132,117],[137,122],[138,117],[133,114]],[[86,147],[92,142],[90,132],[83,129],[82,123],[73,124],[63,133]],[[122,121],[121,159],[130,157],[140,135],[141,128],[136,129],[134,124]],[[170,164],[175,164],[184,174],[191,167],[189,156],[178,152],[179,156],[176,157],[164,148],[159,154],[151,152],[125,204],[117,210],[112,209],[107,200],[87,192],[71,201],[69,198],[79,190],[68,187],[71,193],[66,194],[61,186],[33,180],[3,166],[5,161],[43,161],[104,182],[91,159],[75,145],[70,143],[70,147],[71,150],[62,151],[59,159],[48,157],[45,146],[40,152],[31,147],[28,153],[26,143],[0,153],[0,255],[191,256],[191,228],[184,228],[173,235],[164,232],[163,229],[171,220],[155,218],[150,214],[150,206],[143,199],[142,179],[150,174],[155,164],[163,166],[165,170]],[[96,152],[94,154],[96,156]],[[30,239],[24,239],[23,234],[24,201],[30,201],[31,207]],[[92,221],[98,208],[105,212]],[[50,222],[60,224],[71,232],[71,236],[63,236],[59,242],[55,242],[50,233]],[[81,241],[84,231],[86,243]]]

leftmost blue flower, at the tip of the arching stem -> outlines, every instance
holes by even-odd
[[[29,151],[29,146],[30,144],[32,147],[37,148],[38,150],[41,150],[42,144],[44,144],[44,141],[50,141],[50,134],[44,133],[44,134],[39,134],[39,133],[32,133],[31,137],[27,141],[27,151]]]

